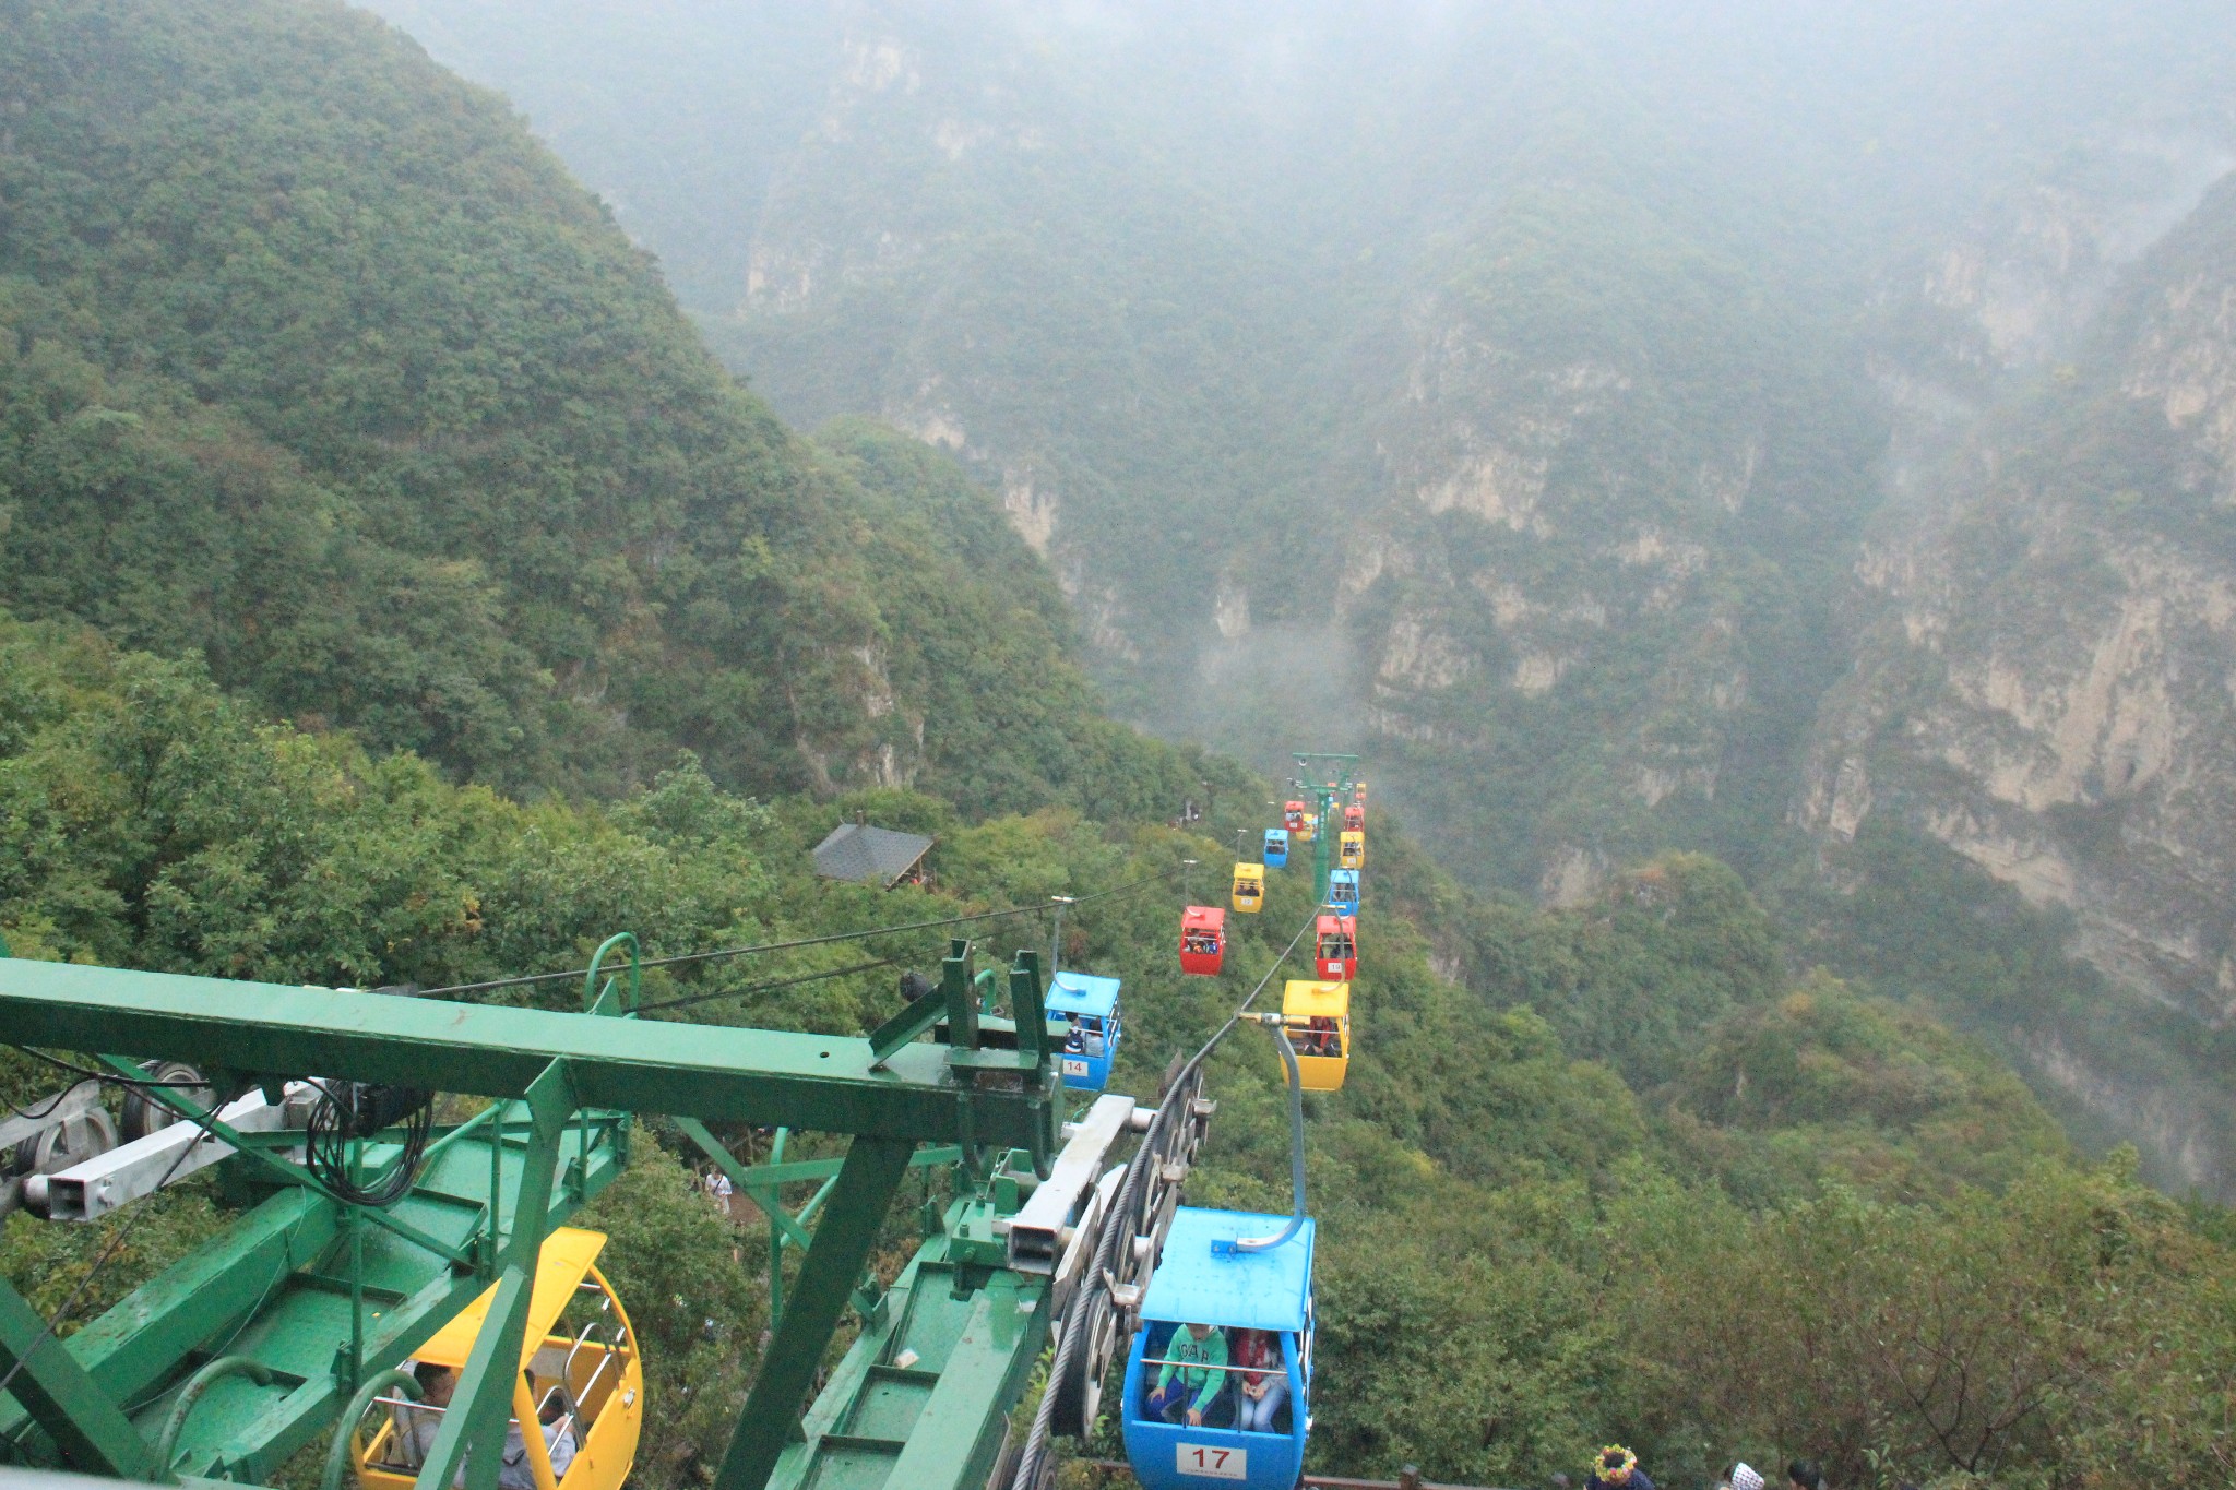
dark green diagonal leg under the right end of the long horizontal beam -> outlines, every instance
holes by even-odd
[[[722,1454],[716,1490],[762,1490],[785,1443],[798,1439],[800,1405],[823,1363],[823,1347],[870,1260],[877,1233],[885,1224],[885,1209],[908,1173],[910,1153],[910,1144],[885,1137],[856,1137],[847,1148],[839,1188],[823,1211],[823,1224],[816,1226],[814,1247],[807,1249],[785,1318],[769,1340],[745,1414],[731,1432],[729,1452]],[[443,1481],[420,1481],[420,1490],[440,1486]]]

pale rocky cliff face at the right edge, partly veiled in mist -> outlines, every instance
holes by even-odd
[[[2196,201],[2220,161],[2178,165]],[[2075,952],[2178,1016],[2169,1070],[2207,1092],[2194,1048],[2236,1019],[2236,185],[2120,264],[2171,192],[2037,197],[1927,279],[1950,357],[1905,386],[1918,469],[1858,550],[1856,670],[1796,813],[1834,862],[1892,818],[2068,911]],[[2055,1023],[2012,1034],[2173,1177],[2232,1171],[2225,1097],[2153,1099]]]

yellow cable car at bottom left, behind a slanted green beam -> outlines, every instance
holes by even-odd
[[[514,1427],[541,1423],[541,1432],[519,1439],[537,1490],[619,1490],[637,1459],[644,1367],[628,1314],[595,1267],[604,1247],[606,1238],[597,1231],[561,1226],[543,1238],[543,1253],[537,1258],[521,1378],[512,1383]],[[449,1381],[456,1383],[494,1298],[492,1284],[443,1325],[418,1349],[416,1360],[423,1367],[449,1367]],[[367,1436],[360,1423],[351,1441],[358,1490],[411,1490],[420,1456],[443,1425],[445,1403],[447,1396],[427,1403],[378,1398],[382,1416],[367,1419],[378,1427]],[[572,1456],[557,1452],[561,1441]]]

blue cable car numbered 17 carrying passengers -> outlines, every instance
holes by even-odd
[[[1288,1224],[1286,1215],[1174,1211],[1125,1365],[1125,1456],[1145,1490],[1292,1490],[1304,1472],[1304,1439],[1313,1432],[1313,1222],[1268,1251],[1212,1251],[1214,1242],[1279,1235]],[[1185,1385],[1185,1367],[1167,1374],[1174,1340],[1183,1331],[1196,1338],[1190,1327],[1207,1327],[1203,1340],[1223,1336],[1228,1365],[1196,1367],[1219,1376],[1216,1387]],[[1270,1387],[1259,1398],[1243,1392],[1250,1349],[1263,1351],[1254,1356],[1263,1363],[1257,1374]],[[1158,1376],[1169,1376],[1169,1405],[1152,1410]],[[1196,1403],[1203,1421],[1190,1427]],[[1245,1423],[1245,1414],[1259,1421]]]

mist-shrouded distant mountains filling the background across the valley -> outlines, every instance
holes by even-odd
[[[2003,791],[1977,751],[1880,813],[1918,844],[1845,853],[1907,717],[1858,699],[1918,646],[1878,592],[2236,159],[2216,7],[376,9],[519,98],[787,418],[997,487],[1129,717],[1266,766],[1308,717],[1552,902],[1713,849],[2091,1137],[2236,1184],[2209,871],[2194,911],[2104,911],[2158,902],[2133,856],[2044,896],[2033,827],[1952,815]],[[2021,583],[2093,646],[2086,583]]]

